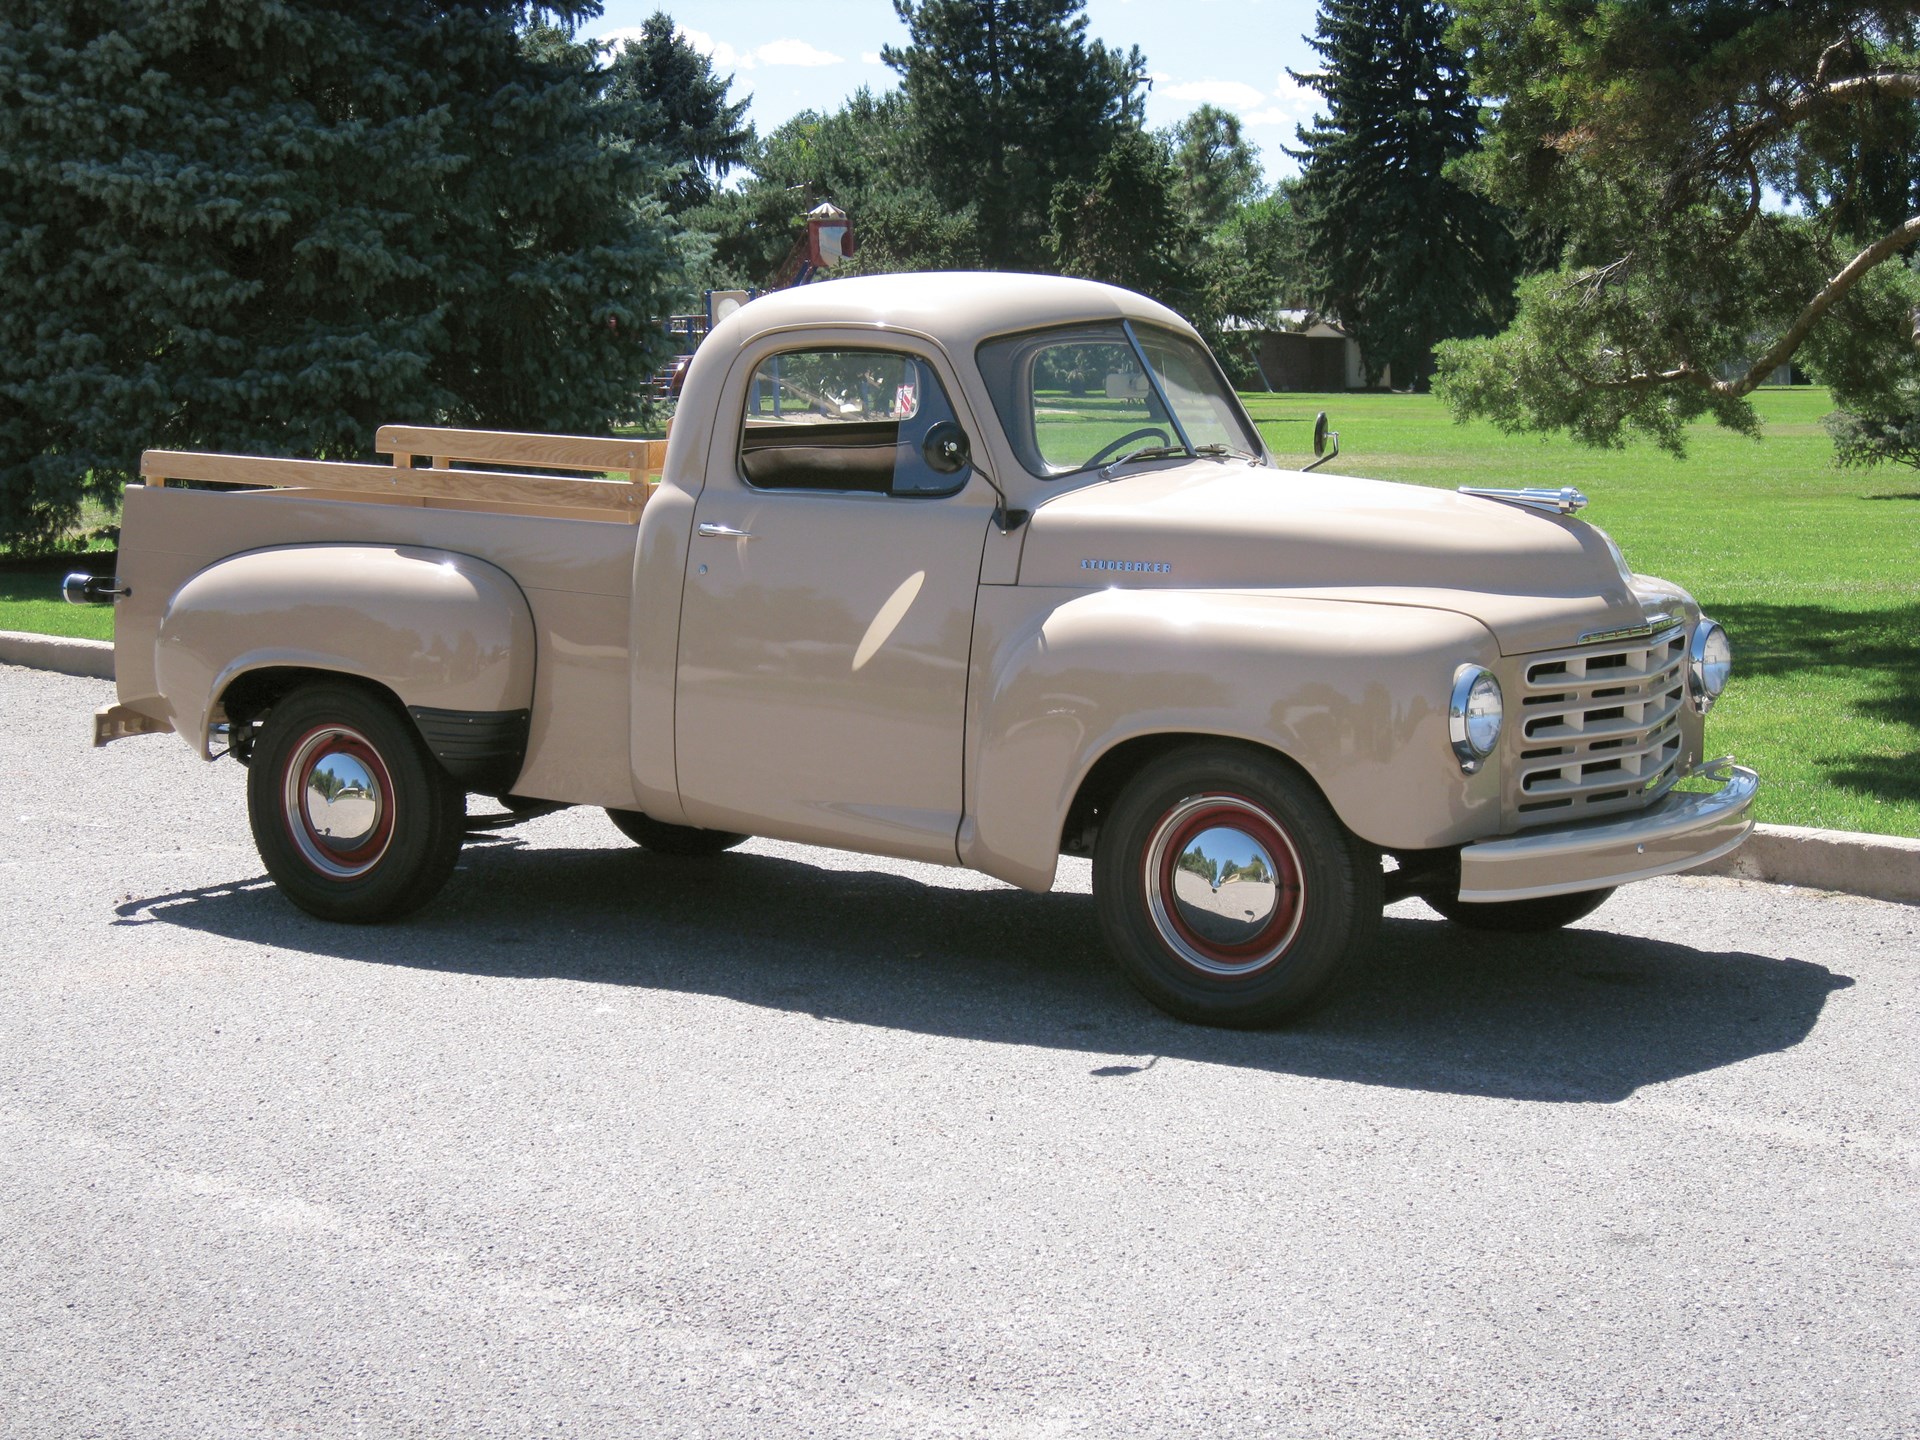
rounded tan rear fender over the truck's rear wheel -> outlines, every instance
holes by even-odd
[[[371,680],[409,708],[516,712],[534,699],[534,616],[499,566],[415,545],[248,551],[167,603],[154,674],[202,756],[227,687],[282,666]]]

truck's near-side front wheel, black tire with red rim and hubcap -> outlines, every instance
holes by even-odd
[[[1267,860],[1248,851],[1244,868],[1219,879],[1177,864],[1223,829]],[[1213,876],[1227,858],[1212,858]],[[1315,1010],[1357,973],[1380,925],[1379,851],[1298,770],[1244,745],[1190,745],[1146,766],[1100,828],[1092,864],[1100,931],[1119,968],[1148,1000],[1200,1025],[1254,1029]],[[1221,899],[1229,885],[1246,891]]]

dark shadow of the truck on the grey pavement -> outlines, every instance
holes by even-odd
[[[1085,895],[513,841],[468,847],[447,891],[396,925],[311,920],[263,877],[129,900],[117,916],[365,964],[668,989],[1085,1050],[1091,1073],[1116,1083],[1150,1083],[1158,1058],[1181,1058],[1542,1102],[1624,1100],[1789,1048],[1853,985],[1805,960],[1603,929],[1501,937],[1388,918],[1375,964],[1336,1004],[1290,1029],[1212,1031],[1135,996]]]

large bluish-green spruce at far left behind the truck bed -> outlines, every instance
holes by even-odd
[[[0,538],[142,447],[365,455],[382,420],[589,430],[655,363],[662,169],[589,4],[0,12]]]

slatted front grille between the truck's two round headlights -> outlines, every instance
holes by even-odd
[[[1686,626],[1521,659],[1507,707],[1517,826],[1638,810],[1680,778]]]

